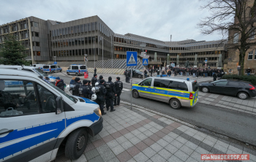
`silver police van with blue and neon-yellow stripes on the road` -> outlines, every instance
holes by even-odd
[[[194,107],[198,101],[198,85],[196,80],[189,78],[186,80],[158,75],[133,84],[132,96],[163,101],[173,109]]]

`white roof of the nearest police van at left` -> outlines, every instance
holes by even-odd
[[[9,76],[23,76],[23,77],[39,77],[39,74],[34,72],[20,71],[16,69],[4,69],[1,70],[1,75],[9,75]]]

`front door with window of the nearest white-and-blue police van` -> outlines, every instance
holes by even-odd
[[[56,95],[36,80],[8,77],[0,80],[0,161],[50,161],[65,113],[56,115]]]

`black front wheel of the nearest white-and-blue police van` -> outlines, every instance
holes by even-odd
[[[86,150],[86,144],[89,136],[86,128],[80,128],[73,131],[67,139],[65,147],[65,155],[72,160],[80,158],[84,150]]]

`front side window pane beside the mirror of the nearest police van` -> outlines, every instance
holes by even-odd
[[[39,92],[39,104],[41,104],[42,112],[55,112],[56,109],[56,96],[51,93],[48,89],[42,87],[42,85],[37,85]]]

